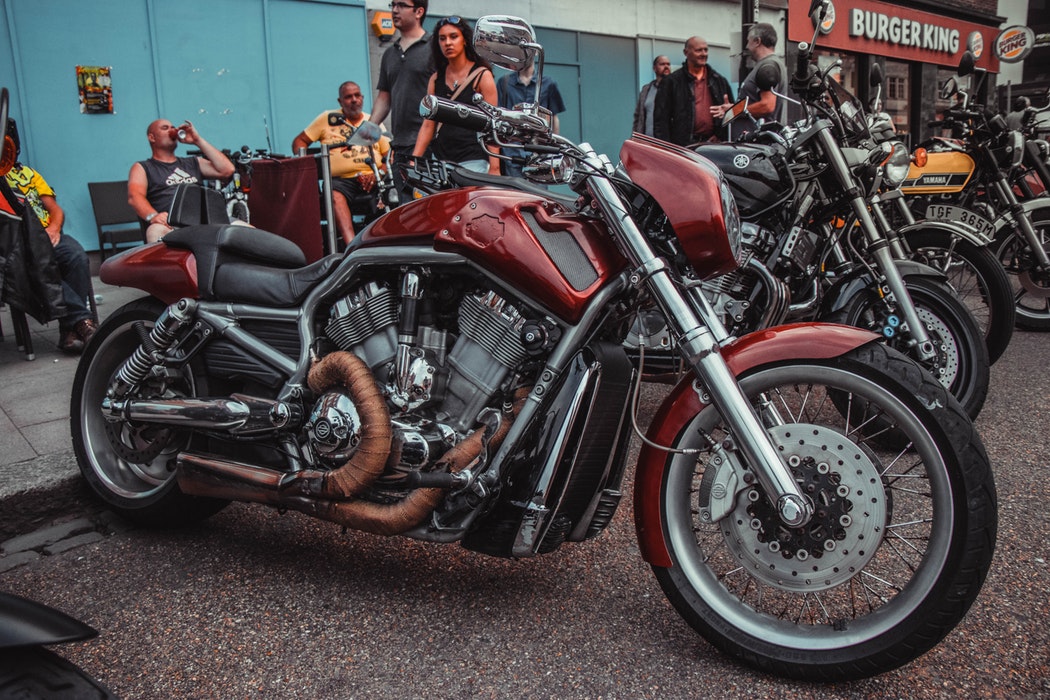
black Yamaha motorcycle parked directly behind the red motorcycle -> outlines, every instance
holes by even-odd
[[[882,201],[907,171],[907,153],[873,135],[875,123],[834,69],[793,81],[805,121],[696,148],[722,170],[747,221],[744,264],[707,282],[705,294],[735,333],[799,320],[870,328],[976,417],[989,384],[981,328],[944,274],[895,245]],[[746,110],[737,103],[727,121]],[[1001,305],[1011,305],[1008,295]]]

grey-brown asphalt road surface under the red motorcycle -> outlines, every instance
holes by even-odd
[[[629,486],[607,533],[530,560],[235,505],[191,530],[117,528],[0,588],[99,629],[59,651],[124,698],[1050,697],[1048,343],[1015,334],[978,422],[1000,501],[981,596],[864,681],[781,681],[693,633],[638,555]]]

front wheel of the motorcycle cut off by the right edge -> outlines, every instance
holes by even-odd
[[[1029,219],[1043,248],[1050,251],[1050,211],[1040,209]],[[1036,270],[1028,240],[1017,230],[995,238],[995,257],[1010,279],[1016,306],[1016,324],[1025,331],[1050,331],[1050,272]]]

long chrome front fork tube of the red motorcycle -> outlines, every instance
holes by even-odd
[[[635,266],[634,280],[644,283],[677,335],[678,348],[711,394],[712,403],[733,431],[737,447],[755,473],[780,518],[790,527],[804,525],[813,516],[813,503],[806,499],[791,469],[769,439],[740,390],[736,377],[719,352],[718,338],[711,328],[719,328],[709,304],[694,309],[672,279],[667,262],[657,257],[645,235],[635,226],[618,192],[604,177],[588,181],[590,192],[605,214],[605,220],[616,230],[628,259]],[[699,295],[702,296],[702,295]],[[709,319],[698,313],[709,313]],[[720,334],[724,334],[724,328]]]

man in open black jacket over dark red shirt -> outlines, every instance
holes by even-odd
[[[691,37],[686,62],[660,81],[653,135],[679,146],[724,137],[721,116],[733,102],[729,81],[708,65],[708,42]]]

